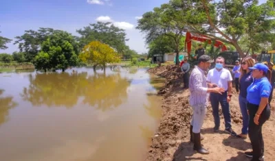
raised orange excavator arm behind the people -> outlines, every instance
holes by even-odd
[[[205,36],[203,34],[191,34],[190,32],[186,32],[185,49],[187,49],[188,57],[190,57],[191,53],[192,40],[196,40],[199,42],[207,42],[209,45],[212,44],[212,39],[209,36]],[[214,47],[221,47],[221,51],[228,50],[223,44],[223,42],[219,40],[215,40]]]

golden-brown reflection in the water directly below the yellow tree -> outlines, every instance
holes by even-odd
[[[96,73],[89,77],[87,82],[83,103],[88,103],[98,110],[112,110],[127,99],[126,89],[130,82],[123,78],[120,73],[112,75]]]

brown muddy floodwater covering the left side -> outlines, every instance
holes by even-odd
[[[146,69],[0,73],[1,161],[141,161],[163,80]]]

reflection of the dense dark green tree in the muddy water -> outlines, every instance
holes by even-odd
[[[46,105],[72,108],[78,97],[84,93],[87,72],[83,73],[42,73],[30,75],[30,86],[23,88],[22,97],[32,106]]]

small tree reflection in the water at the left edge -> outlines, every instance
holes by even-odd
[[[0,89],[0,125],[8,121],[9,110],[15,108],[17,103],[12,101],[13,97],[1,97],[4,90]]]

